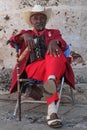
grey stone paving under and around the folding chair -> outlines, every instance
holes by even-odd
[[[12,100],[11,100],[12,98]],[[51,130],[46,124],[46,104],[22,104],[22,121],[13,118],[15,97],[0,96],[0,130]],[[87,105],[61,103],[58,115],[63,120],[61,130],[87,130]]]

